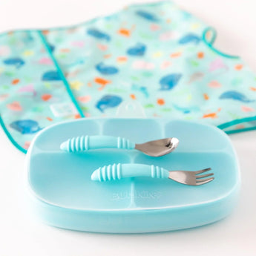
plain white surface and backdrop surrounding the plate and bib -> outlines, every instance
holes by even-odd
[[[0,32],[76,24],[113,13],[131,2],[1,0]],[[256,71],[255,1],[176,2],[217,29],[217,47],[242,56]],[[240,202],[231,216],[179,232],[113,235],[55,229],[30,219],[22,205],[24,154],[10,144],[0,129],[0,256],[256,255],[255,137],[256,131],[231,136],[242,173]]]

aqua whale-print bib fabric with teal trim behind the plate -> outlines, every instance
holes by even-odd
[[[72,27],[0,35],[1,125],[26,151],[38,131],[115,116],[188,119],[229,133],[256,127],[256,76],[214,48],[214,30],[171,1],[134,4]],[[255,120],[255,121],[254,121]]]

